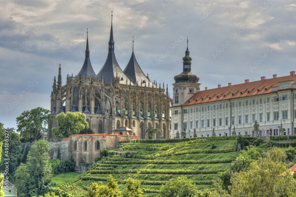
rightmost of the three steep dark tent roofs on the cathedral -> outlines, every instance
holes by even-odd
[[[147,87],[148,83],[150,83],[150,87],[152,87],[152,82],[150,82],[147,76],[145,76],[133,52],[128,64],[126,65],[126,68],[123,70],[123,73],[128,77],[129,80],[131,80],[131,82],[134,81],[135,84],[137,84],[138,82],[139,85],[141,85],[142,82],[143,85],[145,85],[146,82]]]

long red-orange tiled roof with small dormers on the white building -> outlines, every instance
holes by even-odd
[[[272,79],[263,79],[255,82],[247,82],[243,84],[203,90],[195,93],[182,106],[267,94],[271,93],[271,88],[277,87],[279,85],[279,82],[291,80],[294,81],[294,83],[296,83],[295,74],[289,76],[276,77]]]

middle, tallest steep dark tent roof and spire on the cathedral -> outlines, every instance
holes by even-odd
[[[110,30],[110,40],[108,43],[108,55],[106,62],[99,73],[96,75],[99,79],[104,77],[104,83],[114,83],[114,76],[117,75],[120,78],[120,84],[126,84],[127,76],[123,73],[121,68],[119,67],[114,53],[114,40],[113,40],[113,27],[112,27],[112,20],[111,20],[111,30]]]

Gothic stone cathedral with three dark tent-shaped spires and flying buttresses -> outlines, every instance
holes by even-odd
[[[52,128],[57,127],[55,118],[59,113],[81,112],[86,115],[89,127],[96,134],[112,134],[120,127],[132,130],[131,135],[146,138],[146,126],[159,128],[161,136],[154,139],[168,139],[170,136],[170,105],[172,99],[168,86],[151,82],[140,68],[134,51],[122,71],[114,53],[113,27],[111,21],[110,40],[105,64],[98,74],[90,61],[88,35],[85,60],[79,73],[67,75],[62,86],[61,66],[58,80],[54,77],[51,93],[51,118],[48,126],[49,141],[57,141]]]

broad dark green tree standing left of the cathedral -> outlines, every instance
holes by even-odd
[[[41,130],[47,130],[47,123],[52,122],[49,113],[49,110],[41,107],[24,111],[16,119],[17,131],[25,139],[31,138],[31,140],[36,141],[38,136],[42,136]]]

